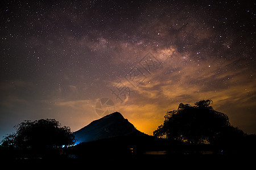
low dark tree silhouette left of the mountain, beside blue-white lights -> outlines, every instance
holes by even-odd
[[[5,137],[2,146],[18,148],[54,148],[75,143],[71,129],[55,119],[23,121],[16,133]]]

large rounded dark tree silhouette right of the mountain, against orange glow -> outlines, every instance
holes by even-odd
[[[230,123],[228,116],[214,111],[211,103],[212,100],[201,100],[194,106],[180,103],[177,110],[167,112],[154,136],[192,144],[212,142]]]

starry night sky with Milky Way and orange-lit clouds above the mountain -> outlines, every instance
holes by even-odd
[[[152,135],[204,99],[256,133],[255,1],[1,3],[0,138],[40,118],[76,131],[108,109]]]

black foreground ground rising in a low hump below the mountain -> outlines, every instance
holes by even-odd
[[[253,145],[254,146],[254,145]],[[249,168],[255,146],[184,145],[152,137],[118,137],[52,150],[0,150],[13,168]]]

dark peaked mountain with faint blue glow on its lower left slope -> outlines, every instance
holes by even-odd
[[[114,112],[98,120],[94,120],[73,134],[75,135],[76,143],[127,135],[146,135],[135,129],[134,125],[119,112]]]

